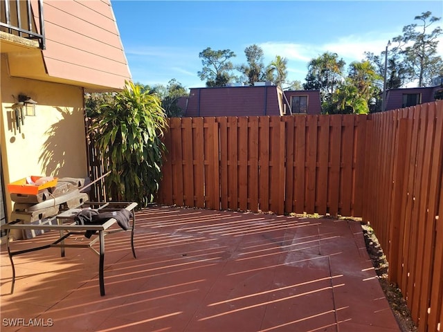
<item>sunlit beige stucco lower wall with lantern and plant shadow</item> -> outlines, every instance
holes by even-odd
[[[0,81],[0,148],[4,182],[28,175],[87,177],[83,90],[79,86],[10,77],[2,54]],[[37,101],[36,115],[26,116],[21,133],[12,123],[12,104],[19,94]],[[12,202],[6,189],[7,221]]]

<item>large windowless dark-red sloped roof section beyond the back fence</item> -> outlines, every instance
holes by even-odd
[[[190,89],[183,116],[280,116],[277,86]]]

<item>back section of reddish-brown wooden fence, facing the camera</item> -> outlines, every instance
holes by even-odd
[[[172,118],[158,203],[361,215],[366,116]]]

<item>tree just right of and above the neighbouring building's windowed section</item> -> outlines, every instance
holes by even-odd
[[[345,64],[343,59],[338,60],[336,53],[330,52],[311,59],[308,64],[306,84],[303,84],[305,90],[315,86],[316,89],[320,89],[322,102],[331,101],[336,87],[343,82]]]

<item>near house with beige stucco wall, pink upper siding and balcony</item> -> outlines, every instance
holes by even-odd
[[[4,223],[7,183],[89,176],[84,92],[118,91],[131,75],[109,0],[2,0],[0,13]]]

